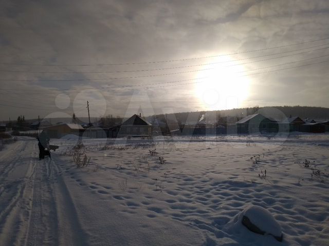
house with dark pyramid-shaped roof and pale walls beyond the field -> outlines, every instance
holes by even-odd
[[[119,127],[118,137],[122,136],[151,136],[152,124],[140,115],[134,114]]]

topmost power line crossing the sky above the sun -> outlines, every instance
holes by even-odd
[[[220,56],[227,56],[227,55],[237,55],[243,53],[251,53],[251,52],[259,52],[264,50],[271,50],[271,49],[278,49],[278,48],[285,48],[295,45],[302,45],[302,44],[309,44],[314,42],[319,42],[323,40],[327,40],[329,37],[310,40],[306,42],[300,42],[296,44],[289,44],[289,45],[281,45],[257,50],[248,50],[248,51],[241,51],[241,52],[234,52],[228,54],[221,54],[221,55],[211,55],[211,56],[202,56],[202,57],[192,57],[192,58],[181,58],[181,59],[171,59],[171,60],[159,60],[159,61],[145,61],[139,63],[112,63],[112,64],[25,64],[25,63],[1,63],[2,65],[14,65],[14,66],[113,66],[113,65],[138,65],[138,64],[155,64],[155,63],[170,63],[173,61],[185,61],[185,60],[195,60],[195,59],[203,59],[203,58],[213,58],[213,57],[220,57]]]

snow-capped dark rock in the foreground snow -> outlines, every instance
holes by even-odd
[[[242,212],[241,217],[242,224],[250,231],[262,235],[272,235],[278,241],[282,241],[281,226],[266,209],[250,206]]]

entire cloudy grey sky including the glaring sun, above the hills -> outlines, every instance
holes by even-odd
[[[0,120],[329,106],[329,1],[1,1]]]

